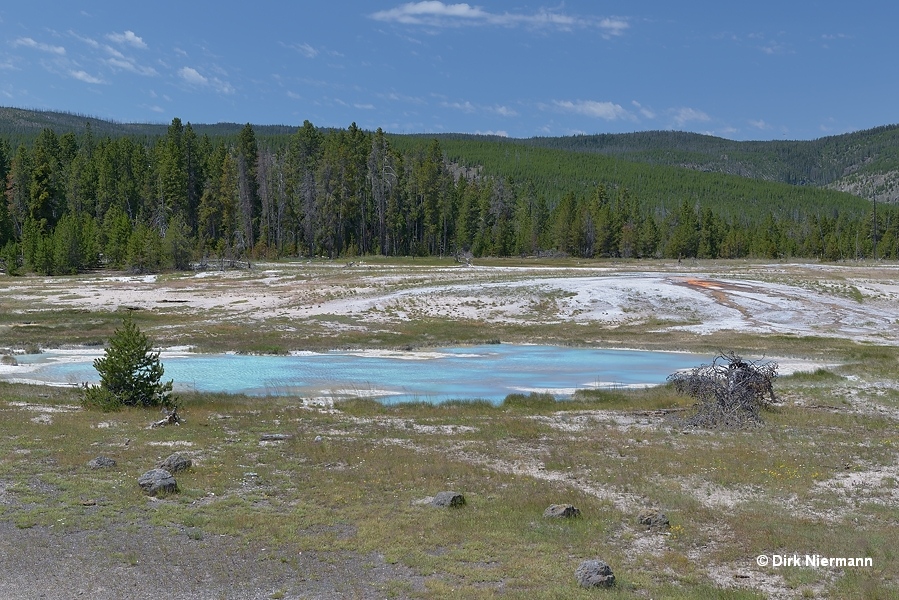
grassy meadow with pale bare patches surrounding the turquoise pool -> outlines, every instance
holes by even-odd
[[[376,265],[397,274],[385,294],[434,285],[431,276],[416,281],[407,266]],[[297,302],[373,286],[354,277],[336,269],[297,275],[297,282],[339,281],[297,291]],[[812,285],[811,275],[795,277],[796,285]],[[820,277],[819,287],[852,295],[849,283]],[[71,279],[77,288],[81,280]],[[176,289],[180,279],[161,276],[159,285]],[[22,289],[0,295],[4,346],[102,345],[121,322],[123,308],[66,307],[44,286],[6,281]],[[228,285],[244,283],[238,277]],[[482,301],[487,306],[478,310],[500,303]],[[161,344],[206,351],[586,343],[584,328],[549,318],[554,301],[531,307],[547,318],[513,324],[425,311],[415,318],[408,306],[396,307],[406,314],[389,328],[363,327],[364,312],[296,322],[274,311],[251,322],[222,307],[160,303],[133,314]],[[181,394],[186,422],[151,429],[155,412],[86,411],[77,389],[0,383],[3,548],[40,561],[27,544],[35,532],[127,538],[92,551],[126,582],[166,548],[179,548],[205,573],[196,589],[216,590],[206,597],[899,597],[899,349],[814,335],[660,331],[647,318],[589,337],[828,366],[778,378],[780,403],[764,413],[765,424],[740,431],[682,427],[691,401],[668,387],[581,391],[565,401],[511,396],[499,406],[364,399],[319,406],[294,397]],[[193,461],[176,475],[180,491],[148,499],[137,477],[173,452]],[[116,466],[90,469],[100,455]],[[464,494],[467,504],[427,504],[443,490]],[[580,518],[544,518],[553,503],[577,506]],[[670,526],[641,526],[645,508],[661,509]],[[756,560],[794,554],[870,557],[873,566]],[[575,569],[592,558],[612,567],[614,588],[577,586]],[[237,581],[244,563],[256,573],[247,589]],[[333,572],[353,576],[334,583]]]

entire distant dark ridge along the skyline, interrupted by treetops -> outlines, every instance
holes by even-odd
[[[57,134],[83,133],[90,123],[95,136],[164,135],[169,123],[119,123],[88,115],[0,107],[0,136],[12,145],[29,144],[44,128]],[[192,123],[199,135],[235,136],[244,124]],[[260,137],[291,135],[299,126],[253,125]],[[707,173],[848,192],[878,202],[899,202],[899,125],[886,125],[822,137],[816,140],[738,142],[681,131],[644,131],[623,134],[535,137],[528,139],[470,134],[395,134],[481,140],[577,153],[612,156],[650,165],[686,168]]]

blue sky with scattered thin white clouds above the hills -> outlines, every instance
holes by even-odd
[[[899,122],[894,2],[0,7],[0,105],[123,122],[813,139]]]

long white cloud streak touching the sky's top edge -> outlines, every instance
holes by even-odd
[[[541,9],[533,13],[494,13],[467,3],[445,4],[437,0],[407,2],[369,15],[376,21],[421,25],[426,27],[460,27],[493,25],[499,27],[533,27],[569,30],[595,27],[603,37],[622,35],[630,27],[627,20],[591,16],[572,16],[556,10]]]

